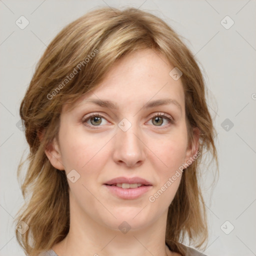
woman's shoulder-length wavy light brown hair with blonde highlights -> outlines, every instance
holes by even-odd
[[[204,150],[216,161],[217,170],[218,162],[215,129],[197,60],[181,36],[159,17],[133,7],[101,7],[72,21],[55,36],[39,59],[20,104],[29,154],[24,161],[20,159],[17,168],[20,181],[21,167],[28,161],[21,180],[24,204],[16,213],[15,223],[24,221],[29,228],[24,234],[16,229],[15,235],[27,255],[50,249],[69,230],[67,178],[64,171],[51,165],[44,152],[57,138],[63,104],[72,106],[81,95],[98,86],[117,59],[142,49],[154,50],[182,72],[189,144],[193,141],[192,127],[200,130],[201,154],[182,174],[168,208],[165,239],[171,250],[182,255],[185,252],[181,243],[186,236],[196,248],[208,239],[198,164]]]

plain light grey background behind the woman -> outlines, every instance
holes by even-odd
[[[12,221],[23,201],[16,168],[28,147],[16,123],[35,64],[64,25],[106,5],[150,11],[186,38],[203,67],[218,133],[220,176],[213,190],[208,187],[214,166],[202,165],[210,229],[204,253],[256,255],[255,0],[0,0],[0,255],[24,255]],[[21,15],[29,21],[24,29],[15,24]],[[226,15],[234,21],[229,29],[221,24]]]

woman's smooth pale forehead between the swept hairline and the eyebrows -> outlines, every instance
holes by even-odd
[[[97,87],[81,95],[71,109],[95,103],[112,109],[173,104],[182,111],[184,93],[181,79],[169,72],[174,67],[151,49],[135,51],[116,60]],[[164,102],[163,102],[164,101]],[[70,109],[70,110],[71,110]]]

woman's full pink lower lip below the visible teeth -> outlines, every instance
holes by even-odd
[[[106,186],[111,193],[122,199],[136,199],[142,194],[146,193],[152,187],[151,185],[147,185],[139,186],[136,188],[121,188],[118,186],[111,186],[106,184],[104,184],[104,186]]]

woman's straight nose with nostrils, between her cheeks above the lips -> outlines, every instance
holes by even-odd
[[[123,129],[122,126],[117,127],[113,152],[113,159],[116,163],[128,167],[142,164],[145,159],[145,144],[141,134],[134,123],[131,123],[127,130]]]

